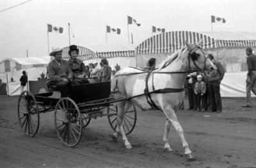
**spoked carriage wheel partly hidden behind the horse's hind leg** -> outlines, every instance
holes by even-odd
[[[117,105],[111,105],[108,107],[108,121],[111,128],[115,131],[117,126]],[[131,105],[130,109],[124,114],[124,132],[126,135],[130,134],[136,125],[137,112],[134,105]]]

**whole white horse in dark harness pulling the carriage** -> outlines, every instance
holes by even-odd
[[[208,72],[216,70],[216,66],[212,64],[207,54],[205,54],[204,50],[198,47],[198,45],[200,45],[200,42],[198,42],[197,45],[186,42],[187,47],[184,47],[168,57],[149,75],[148,73],[141,73],[141,70],[136,68],[124,68],[115,74],[111,81],[112,90],[118,89],[118,92],[113,94],[115,98],[124,98],[124,96],[132,97],[136,95],[142,96],[136,96],[131,98],[131,100],[117,102],[118,124],[113,139],[116,140],[118,134],[121,134],[125,148],[131,149],[132,145],[129,143],[123,127],[123,116],[125,112],[131,107],[132,103],[143,110],[152,109],[153,106],[163,111],[167,118],[163,136],[164,151],[173,151],[168,143],[168,134],[172,123],[180,136],[188,160],[195,160],[195,156],[189,149],[183,129],[180,126],[175,112],[177,112],[179,106],[184,102],[184,82],[188,75],[188,70],[207,70]],[[146,92],[145,88],[147,88]],[[145,93],[145,95],[143,95],[143,93]]]

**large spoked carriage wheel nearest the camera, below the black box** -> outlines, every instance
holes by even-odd
[[[83,125],[81,112],[70,98],[61,98],[56,103],[54,124],[61,142],[69,147],[76,146],[82,137]]]

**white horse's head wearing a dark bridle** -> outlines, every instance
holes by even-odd
[[[188,47],[188,67],[190,70],[207,70],[212,72],[217,70],[216,66],[209,59],[208,55],[199,46],[202,44],[202,40],[196,43],[196,45],[186,42]]]

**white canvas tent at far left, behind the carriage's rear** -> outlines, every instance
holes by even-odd
[[[0,95],[20,94],[19,79],[23,70],[27,72],[28,80],[45,80],[50,59],[50,56],[14,57],[0,61]]]

